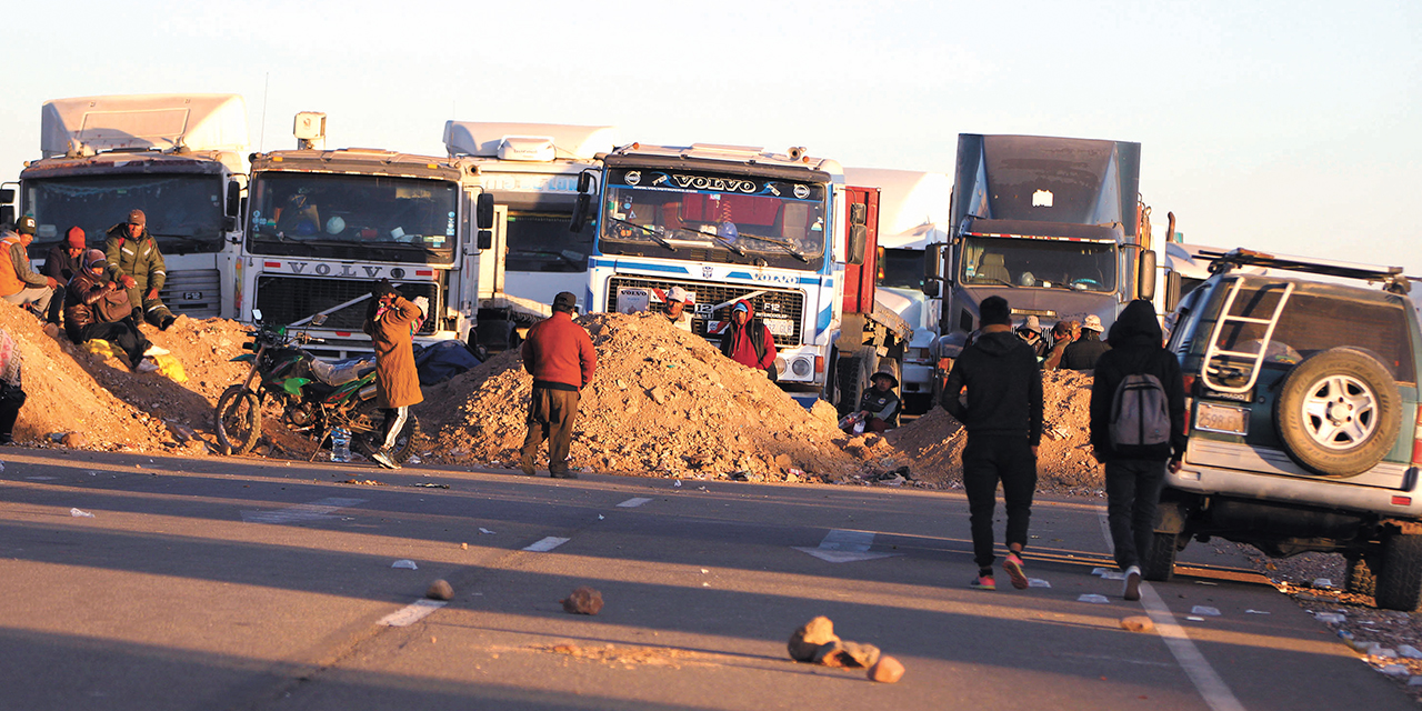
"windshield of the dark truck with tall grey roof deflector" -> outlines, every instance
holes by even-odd
[[[964,237],[958,277],[968,286],[1116,290],[1116,246],[1051,239]]]

